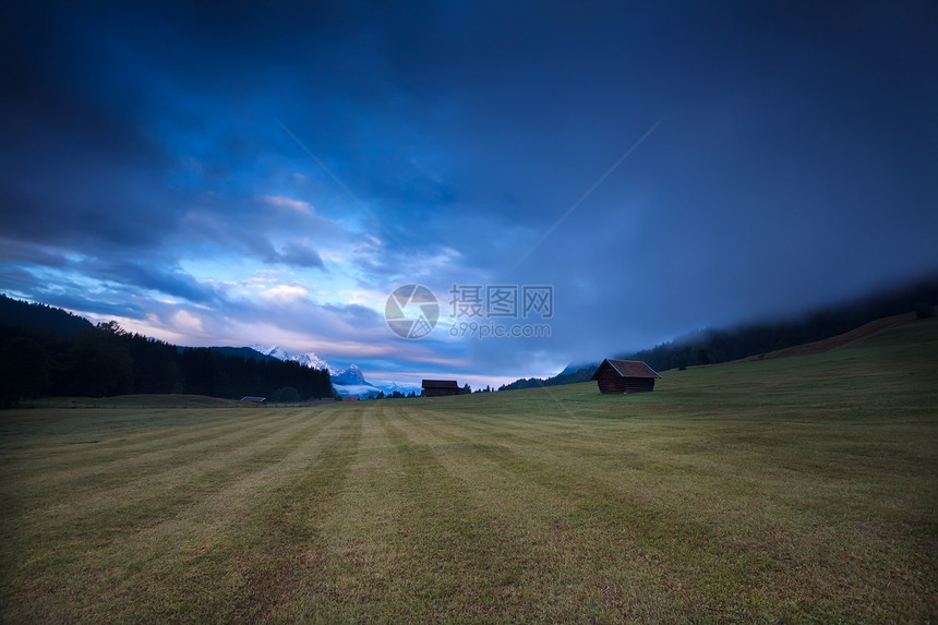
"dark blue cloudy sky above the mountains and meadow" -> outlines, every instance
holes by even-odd
[[[173,342],[479,385],[938,268],[934,2],[0,11],[0,290]]]

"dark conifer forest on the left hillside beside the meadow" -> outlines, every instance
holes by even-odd
[[[88,324],[72,336],[0,324],[0,407],[44,396],[151,393],[301,401],[335,396],[328,371],[205,347],[179,348],[128,333],[117,322]]]

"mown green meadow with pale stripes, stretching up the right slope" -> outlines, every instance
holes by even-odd
[[[923,321],[636,396],[2,412],[0,614],[934,621],[936,353]]]

